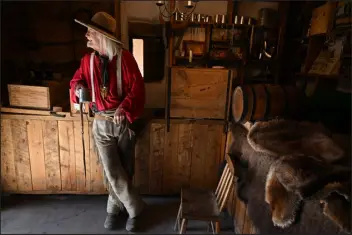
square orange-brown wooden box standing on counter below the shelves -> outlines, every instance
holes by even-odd
[[[170,117],[225,119],[230,78],[227,69],[172,68]]]

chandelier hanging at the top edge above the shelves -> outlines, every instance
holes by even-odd
[[[192,0],[192,1],[156,1],[156,5],[159,7],[160,16],[164,19],[170,19],[171,17],[175,16],[176,14],[180,14],[183,20],[187,21],[189,17],[192,15],[194,9],[196,9],[197,2],[199,0]],[[170,2],[174,2],[175,6],[174,9],[171,9]],[[183,5],[185,12],[180,10],[180,7]]]

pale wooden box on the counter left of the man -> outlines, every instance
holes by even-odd
[[[66,86],[57,81],[44,81],[44,86],[8,84],[9,103],[13,107],[50,110],[68,102],[68,97],[62,95]]]

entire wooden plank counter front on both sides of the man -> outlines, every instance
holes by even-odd
[[[9,193],[105,194],[91,121],[2,115],[1,187]],[[138,138],[134,184],[142,194],[178,194],[182,186],[214,189],[226,135],[222,122],[150,123]]]

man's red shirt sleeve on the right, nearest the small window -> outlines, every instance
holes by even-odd
[[[128,121],[132,123],[143,113],[145,87],[144,79],[139,71],[137,62],[127,50],[123,50],[122,52],[121,70],[121,74],[124,76],[123,80],[128,82],[130,89],[119,107],[126,112]]]

